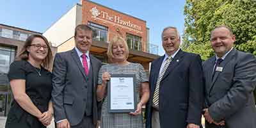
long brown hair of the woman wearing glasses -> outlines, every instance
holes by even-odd
[[[25,44],[23,45],[22,49],[20,50],[20,53],[17,56],[16,60],[28,60],[29,52],[27,51],[27,48],[31,45],[32,41],[36,37],[42,38],[48,47],[48,54],[47,54],[46,58],[43,60],[42,66],[49,69],[51,67],[51,63],[52,63],[51,45],[49,44],[47,38],[45,38],[45,36],[43,36],[43,35],[33,34],[33,35],[28,36],[28,38],[27,38]]]

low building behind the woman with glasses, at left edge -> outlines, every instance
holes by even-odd
[[[13,100],[7,77],[10,64],[31,34],[42,33],[0,24],[0,117],[7,115]],[[57,50],[56,47],[51,49],[53,53]]]

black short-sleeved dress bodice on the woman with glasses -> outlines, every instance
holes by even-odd
[[[14,61],[10,65],[8,78],[10,81],[12,79],[25,79],[26,94],[42,113],[47,111],[52,92],[51,72],[44,67],[41,69],[33,67],[28,61]]]

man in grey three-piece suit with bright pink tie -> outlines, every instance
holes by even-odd
[[[74,49],[55,56],[52,69],[54,118],[58,128],[92,128],[99,118],[96,88],[102,63],[89,53],[92,45],[90,27],[78,25],[74,38]]]

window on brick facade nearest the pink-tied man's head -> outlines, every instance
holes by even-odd
[[[108,28],[93,22],[88,22],[93,31],[93,40],[108,42]]]

